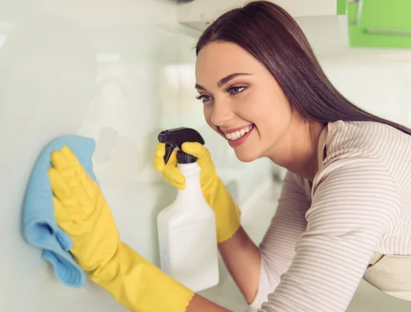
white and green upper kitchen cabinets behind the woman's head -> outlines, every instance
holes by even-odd
[[[248,0],[180,1],[178,21],[198,36]],[[411,0],[273,0],[299,24],[321,60],[411,60]]]

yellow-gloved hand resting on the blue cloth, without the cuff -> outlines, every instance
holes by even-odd
[[[51,154],[49,170],[55,218],[73,239],[70,250],[88,274],[101,268],[119,247],[119,231],[110,207],[70,148]]]

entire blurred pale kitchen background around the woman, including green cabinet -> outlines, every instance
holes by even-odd
[[[279,0],[303,28],[335,86],[351,101],[411,125],[411,5],[407,0]],[[159,265],[155,218],[175,198],[152,166],[157,135],[193,127],[243,211],[256,243],[275,213],[284,170],[241,163],[195,99],[195,43],[243,0],[0,0],[0,311],[126,311],[88,281],[58,283],[21,235],[32,166],[49,140],[94,138],[95,172],[121,238]],[[407,18],[408,16],[408,18]],[[247,305],[221,265],[203,295]],[[362,282],[349,311],[410,311]]]

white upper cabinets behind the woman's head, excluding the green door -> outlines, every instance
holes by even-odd
[[[203,31],[227,10],[242,6],[245,0],[195,0],[180,3],[179,22]],[[317,57],[323,60],[411,60],[410,49],[349,47],[347,15],[336,14],[336,0],[273,1],[295,18]]]

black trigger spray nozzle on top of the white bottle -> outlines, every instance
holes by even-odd
[[[175,148],[179,148],[180,151],[177,153],[177,161],[180,164],[189,164],[197,161],[197,158],[184,153],[182,151],[182,144],[184,142],[199,142],[204,144],[204,140],[200,133],[191,128],[176,128],[171,130],[164,130],[158,134],[158,142],[166,144],[166,154],[164,155],[164,163],[170,159],[171,153]]]

